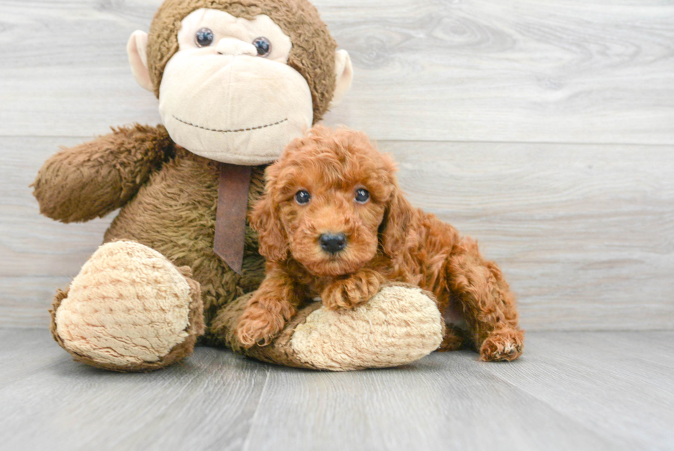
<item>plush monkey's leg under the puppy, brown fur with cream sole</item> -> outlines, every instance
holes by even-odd
[[[235,328],[250,295],[224,307],[210,335],[250,357],[279,365],[332,371],[400,366],[437,349],[445,331],[431,293],[416,286],[388,284],[352,311],[329,311],[320,302],[309,304],[272,344],[244,350]]]

